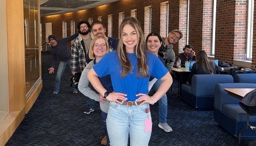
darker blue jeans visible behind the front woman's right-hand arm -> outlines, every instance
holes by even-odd
[[[155,82],[155,84],[153,85],[153,89],[155,91],[158,90],[158,88],[160,87],[160,84],[162,84],[162,81],[161,80],[157,80]],[[161,99],[159,99],[158,101],[158,107],[159,107],[159,121],[160,123],[166,123],[167,122],[167,95],[166,93],[162,96]]]

